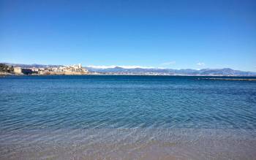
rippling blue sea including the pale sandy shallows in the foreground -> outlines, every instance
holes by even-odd
[[[0,77],[0,159],[256,159],[256,81]]]

